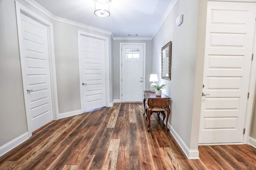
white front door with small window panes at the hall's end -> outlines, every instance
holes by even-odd
[[[143,100],[143,45],[122,45],[122,102]]]

